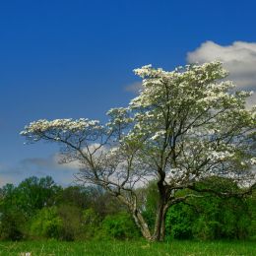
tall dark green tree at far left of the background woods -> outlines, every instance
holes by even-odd
[[[0,238],[18,240],[26,237],[27,225],[37,210],[52,206],[60,191],[51,177],[30,177],[18,186],[0,189]]]

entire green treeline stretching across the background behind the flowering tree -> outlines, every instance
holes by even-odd
[[[211,178],[197,186],[241,192],[231,181]],[[156,187],[138,189],[141,211],[154,228]],[[181,195],[191,194],[182,190]],[[256,191],[247,197],[196,194],[172,206],[166,239],[256,238]],[[0,189],[0,239],[129,239],[141,237],[127,209],[96,186],[57,185],[51,177],[30,177]]]

